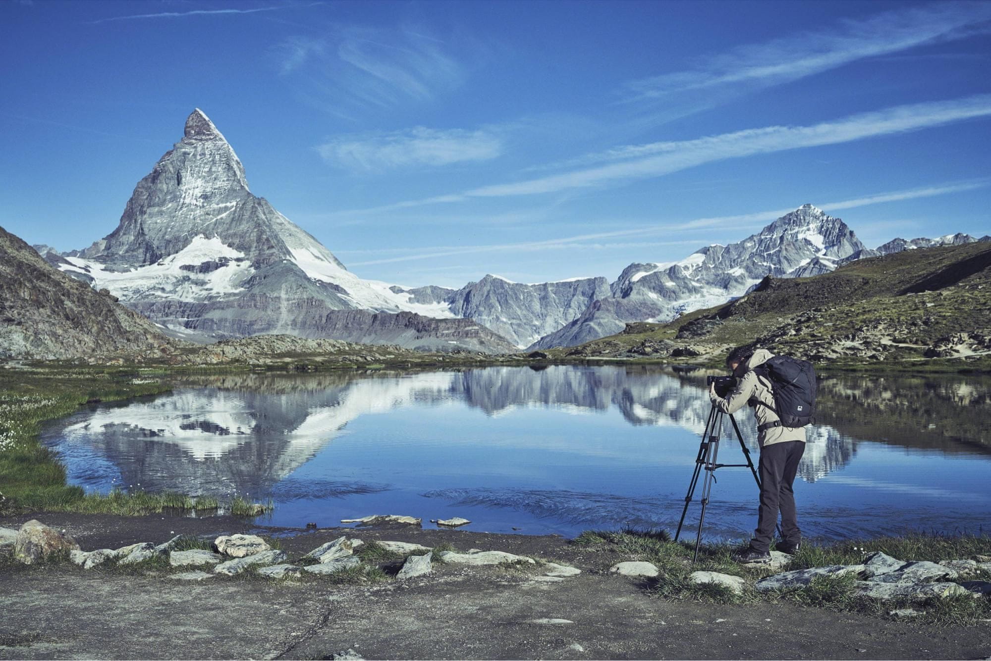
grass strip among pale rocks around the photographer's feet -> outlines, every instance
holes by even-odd
[[[971,625],[991,619],[991,600],[972,596],[934,599],[928,602],[879,602],[856,595],[854,576],[824,576],[805,588],[758,593],[752,587],[735,594],[712,583],[696,584],[690,580],[694,571],[710,571],[739,576],[754,582],[784,571],[853,565],[873,551],[882,551],[902,560],[964,560],[974,555],[991,555],[991,536],[987,534],[938,535],[910,532],[901,536],[852,539],[827,545],[803,544],[792,561],[780,569],[747,567],[734,562],[732,554],[740,550],[729,543],[704,544],[699,560],[692,564],[694,543],[674,542],[663,530],[620,531],[587,530],[574,543],[609,549],[629,557],[654,563],[660,570],[647,584],[647,591],[668,600],[693,600],[718,604],[758,604],[792,602],[803,606],[826,608],[838,612],[892,616],[900,609],[918,611],[919,621],[941,624]],[[968,577],[991,581],[991,572],[979,571]]]

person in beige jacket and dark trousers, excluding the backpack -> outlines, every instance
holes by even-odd
[[[781,512],[781,533],[784,539],[775,546],[779,551],[795,553],[802,532],[795,512],[792,483],[799,460],[805,452],[806,432],[803,427],[781,425],[776,413],[772,384],[759,368],[774,356],[766,349],[739,347],[729,353],[726,365],[736,377],[736,387],[725,399],[710,387],[710,398],[716,409],[732,414],[747,404],[757,419],[757,439],[760,442],[760,512],[757,529],[749,547],[734,559],[738,562],[770,562],[770,544]]]

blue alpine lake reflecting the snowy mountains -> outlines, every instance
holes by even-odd
[[[472,521],[464,529],[491,532],[673,532],[712,373],[551,365],[182,376],[168,394],[55,421],[43,441],[87,491],[271,500],[258,523],[394,514],[424,527],[461,517]],[[752,413],[734,418],[756,462]],[[991,378],[822,375],[817,423],[795,485],[807,538],[989,532]],[[744,463],[723,426],[718,461]],[[701,483],[686,518],[693,538],[700,498]],[[747,537],[756,511],[750,471],[719,468],[705,538]]]

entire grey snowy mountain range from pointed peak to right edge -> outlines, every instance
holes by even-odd
[[[759,234],[619,277],[522,284],[487,275],[459,290],[365,280],[248,187],[200,110],[135,187],[116,230],[82,250],[36,249],[56,268],[193,341],[289,333],[407,348],[512,352],[571,346],[628,322],[667,322],[744,295],[766,275],[807,277],[862,257],[975,240],[896,238],[869,249],[804,205]]]

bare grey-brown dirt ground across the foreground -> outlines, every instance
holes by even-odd
[[[212,534],[243,527],[236,519],[39,519],[65,527],[85,549],[164,540],[172,530]],[[0,525],[20,520],[0,519]],[[190,584],[72,565],[6,566],[0,569],[0,658],[324,658],[348,648],[369,659],[991,655],[991,625],[940,628],[790,605],[653,599],[636,579],[605,572],[623,558],[559,537],[410,528],[357,532],[367,540],[447,540],[460,548],[528,553],[573,563],[583,573],[545,583],[518,570],[437,566],[432,575],[406,582],[338,587],[261,578]],[[340,534],[301,532],[285,537],[283,547],[291,555]],[[547,619],[567,622],[539,621]]]

